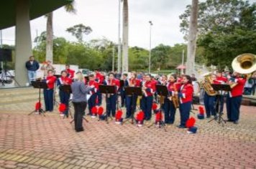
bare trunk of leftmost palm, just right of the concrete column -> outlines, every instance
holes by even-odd
[[[46,60],[50,60],[53,63],[53,28],[52,28],[52,16],[53,13],[47,14],[47,26],[46,26]]]

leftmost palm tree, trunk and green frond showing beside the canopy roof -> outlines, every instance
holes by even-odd
[[[76,14],[76,9],[74,7],[75,1],[71,1],[69,4],[65,5],[65,11]],[[46,24],[46,60],[50,60],[53,63],[53,27],[52,19],[53,12],[46,14],[47,24]]]

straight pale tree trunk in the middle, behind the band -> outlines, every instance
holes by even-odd
[[[129,15],[128,15],[128,0],[123,2],[123,57],[122,57],[122,72],[128,72],[128,34],[129,34]]]

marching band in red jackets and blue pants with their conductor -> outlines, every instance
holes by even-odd
[[[68,117],[69,102],[72,100],[75,110],[75,129],[77,132],[83,130],[82,120],[88,104],[88,115],[92,115],[101,106],[102,94],[99,90],[100,85],[114,86],[114,93],[109,93],[106,97],[106,114],[109,117],[115,117],[116,109],[120,111],[119,100],[121,107],[126,108],[126,118],[134,118],[134,113],[143,112],[143,120],[149,121],[152,118],[152,107],[159,99],[157,93],[157,85],[165,86],[168,90],[168,96],[165,96],[160,109],[164,112],[164,122],[166,125],[173,125],[175,122],[175,114],[178,109],[180,112],[180,124],[178,128],[186,128],[193,107],[193,84],[195,79],[189,75],[182,74],[179,77],[177,74],[169,74],[155,79],[150,74],[140,74],[142,79],[137,79],[137,73],[122,74],[120,79],[116,79],[115,74],[110,72],[108,77],[105,77],[101,72],[96,71],[95,74],[90,74],[88,80],[83,77],[81,72],[76,72],[66,65],[66,69],[61,72],[60,77],[56,78],[54,72],[47,70],[47,76],[43,79],[47,83],[47,89],[44,89],[45,111],[52,112],[53,110],[53,95],[55,82],[59,89],[60,103],[65,105],[63,115]],[[73,79],[73,77],[75,78]],[[227,107],[227,122],[239,122],[239,107],[242,102],[242,93],[244,84],[247,81],[247,76],[239,72],[227,74],[221,71],[208,73],[204,75],[204,79],[198,83],[204,89],[204,107],[206,117],[211,115],[216,118],[216,115],[224,112],[224,102]],[[212,84],[228,84],[231,91],[215,91]],[[70,85],[72,89],[72,98],[70,92],[63,90],[63,85]],[[142,96],[137,94],[127,95],[127,87],[139,87],[142,91]],[[119,98],[120,96],[120,98]],[[139,102],[140,101],[140,105]],[[138,107],[137,107],[138,105]],[[116,108],[117,107],[117,108]],[[102,107],[101,107],[102,109]],[[93,112],[93,113],[92,113]],[[155,112],[155,111],[154,111]],[[94,114],[93,114],[94,115]],[[138,114],[137,114],[138,115]],[[136,120],[136,119],[135,119]]]

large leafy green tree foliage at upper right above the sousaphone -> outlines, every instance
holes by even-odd
[[[181,32],[188,34],[191,6],[180,15]],[[196,62],[231,68],[234,57],[256,54],[256,3],[206,0],[199,4]]]

